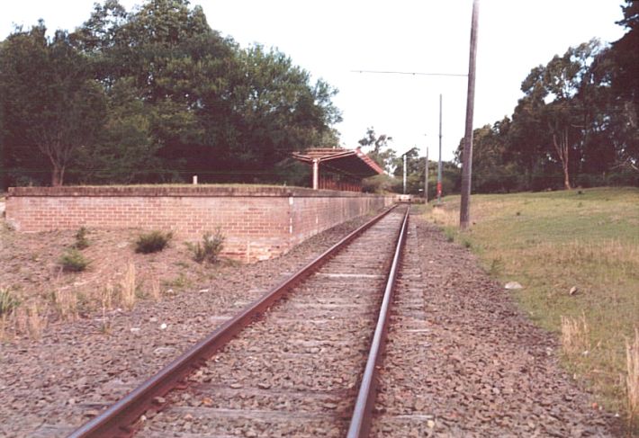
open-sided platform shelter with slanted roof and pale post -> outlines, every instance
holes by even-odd
[[[383,174],[383,168],[357,147],[356,149],[315,147],[293,152],[293,157],[313,166],[314,190],[362,192],[362,180]]]

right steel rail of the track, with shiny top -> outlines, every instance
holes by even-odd
[[[347,438],[364,438],[368,436],[371,429],[373,417],[373,407],[377,389],[377,368],[382,360],[383,344],[388,332],[388,320],[391,316],[392,295],[395,289],[395,281],[400,270],[401,254],[406,241],[406,232],[409,225],[410,205],[406,209],[404,221],[401,224],[400,235],[398,237],[395,256],[392,259],[391,272],[386,282],[380,314],[377,317],[377,326],[371,342],[371,349],[368,353],[366,368],[362,376],[362,383],[359,386],[353,416],[348,427]]]

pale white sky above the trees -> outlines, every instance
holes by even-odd
[[[128,10],[139,0],[121,0]],[[622,0],[482,0],[474,127],[511,115],[532,67],[593,37],[621,38]],[[14,24],[39,18],[73,30],[93,0],[0,0],[0,40]],[[444,95],[443,156],[464,136],[465,77],[398,76],[352,70],[468,73],[472,0],[192,0],[211,27],[242,47],[275,47],[339,89],[337,128],[346,147],[365,130],[391,135],[403,153],[437,157],[439,94]],[[425,134],[428,134],[425,136]]]

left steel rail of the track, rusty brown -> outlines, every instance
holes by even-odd
[[[102,414],[80,426],[69,438],[106,438],[106,437],[129,437],[135,433],[134,423],[139,416],[144,414],[149,408],[161,405],[158,398],[166,395],[171,389],[179,386],[185,378],[196,369],[200,368],[213,353],[220,347],[227,344],[235,335],[246,326],[257,320],[269,307],[277,300],[281,299],[285,293],[293,289],[295,285],[309,277],[311,273],[325,264],[339,250],[347,246],[353,239],[361,235],[366,229],[372,227],[377,221],[386,216],[392,208],[383,211],[373,219],[366,222],[361,227],[341,239],[337,244],[331,246],[322,255],[315,258],[309,264],[303,266],[299,271],[293,273],[283,282],[277,284],[273,289],[267,291],[261,298],[247,305],[238,315],[225,322],[210,335],[207,335],[192,348],[180,355],[175,361],[166,365],[153,377],[142,382],[138,388],[133,389],[127,396],[108,407]]]

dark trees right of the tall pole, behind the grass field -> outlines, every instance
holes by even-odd
[[[620,40],[532,68],[513,114],[474,130],[473,192],[639,186],[639,3],[622,10]]]

